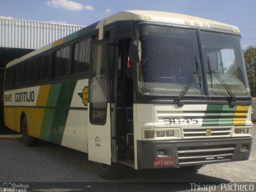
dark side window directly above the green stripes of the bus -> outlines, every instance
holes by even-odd
[[[54,78],[67,76],[70,63],[70,46],[55,51],[53,56]]]

